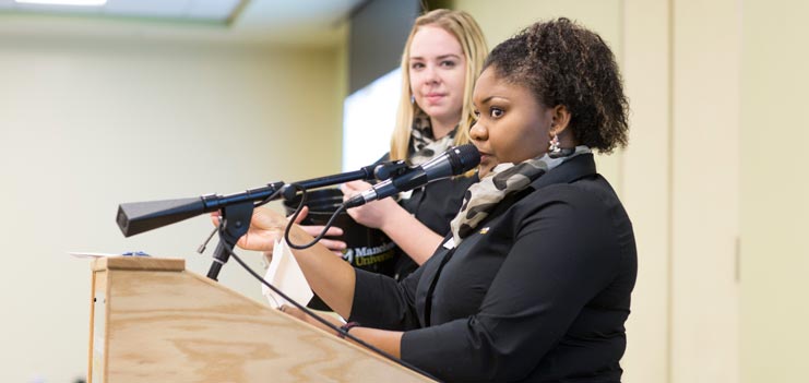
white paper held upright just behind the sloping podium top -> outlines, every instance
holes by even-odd
[[[273,260],[270,261],[270,267],[266,268],[264,280],[304,306],[309,303],[309,300],[314,297],[312,289],[306,282],[306,277],[304,277],[304,272],[300,271],[300,266],[298,266],[298,262],[295,261],[295,256],[289,251],[286,241],[275,242],[275,248],[273,248]],[[289,303],[263,284],[261,285],[261,292],[274,308]]]

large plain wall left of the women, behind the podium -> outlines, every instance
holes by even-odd
[[[68,251],[143,250],[207,272],[214,246],[194,252],[206,217],[127,239],[119,203],[340,171],[341,55],[0,34],[0,381],[86,372],[90,268]],[[221,283],[261,298],[234,261]]]

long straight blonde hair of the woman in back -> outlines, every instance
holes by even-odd
[[[413,129],[413,118],[419,111],[416,103],[412,103],[413,93],[411,91],[411,44],[413,36],[423,26],[438,26],[457,39],[466,58],[466,79],[464,82],[463,106],[461,107],[461,120],[455,132],[455,145],[463,145],[469,142],[469,127],[475,116],[472,110],[472,89],[475,87],[478,74],[486,59],[489,49],[486,46],[486,39],[472,15],[464,11],[435,10],[430,11],[418,19],[413,24],[411,35],[407,36],[404,52],[402,52],[402,97],[398,101],[398,111],[396,113],[396,127],[391,137],[391,160],[406,159],[409,153],[411,130]]]

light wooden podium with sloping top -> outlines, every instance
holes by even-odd
[[[93,262],[90,382],[431,382],[185,267]]]

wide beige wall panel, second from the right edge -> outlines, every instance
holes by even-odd
[[[738,382],[736,0],[671,2],[671,382]]]

